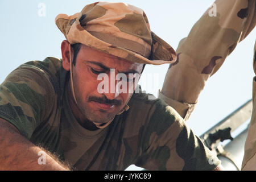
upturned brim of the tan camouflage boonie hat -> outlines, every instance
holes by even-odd
[[[164,42],[164,40],[160,39],[159,36],[155,35],[154,32],[151,33],[152,47],[150,56],[147,58],[127,48],[113,45],[96,38],[96,36],[93,36],[81,26],[79,21],[81,16],[81,13],[72,16],[66,14],[59,14],[56,16],[55,23],[57,27],[63,32],[65,38],[71,44],[81,43],[97,49],[98,51],[141,64],[171,64],[177,59],[174,49]]]

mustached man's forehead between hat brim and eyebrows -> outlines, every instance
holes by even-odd
[[[134,63],[126,59],[122,59],[121,57],[117,57],[114,55],[110,55],[109,53],[98,51],[97,49],[90,48],[88,46],[85,46],[84,44],[81,45],[77,57],[84,61],[93,61],[104,64],[106,67],[109,68],[139,69],[143,66],[143,64]]]

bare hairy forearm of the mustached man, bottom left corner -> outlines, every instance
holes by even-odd
[[[68,170],[47,152],[40,151],[42,148],[22,137],[13,125],[0,118],[0,170]],[[45,154],[45,163],[39,162],[44,156],[38,154]]]

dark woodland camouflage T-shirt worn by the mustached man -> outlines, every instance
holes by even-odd
[[[60,59],[20,65],[0,85],[0,117],[77,170],[123,170],[131,164],[213,170],[220,164],[183,118],[151,94],[134,94],[130,109],[105,129],[84,129],[69,107],[68,80]]]

